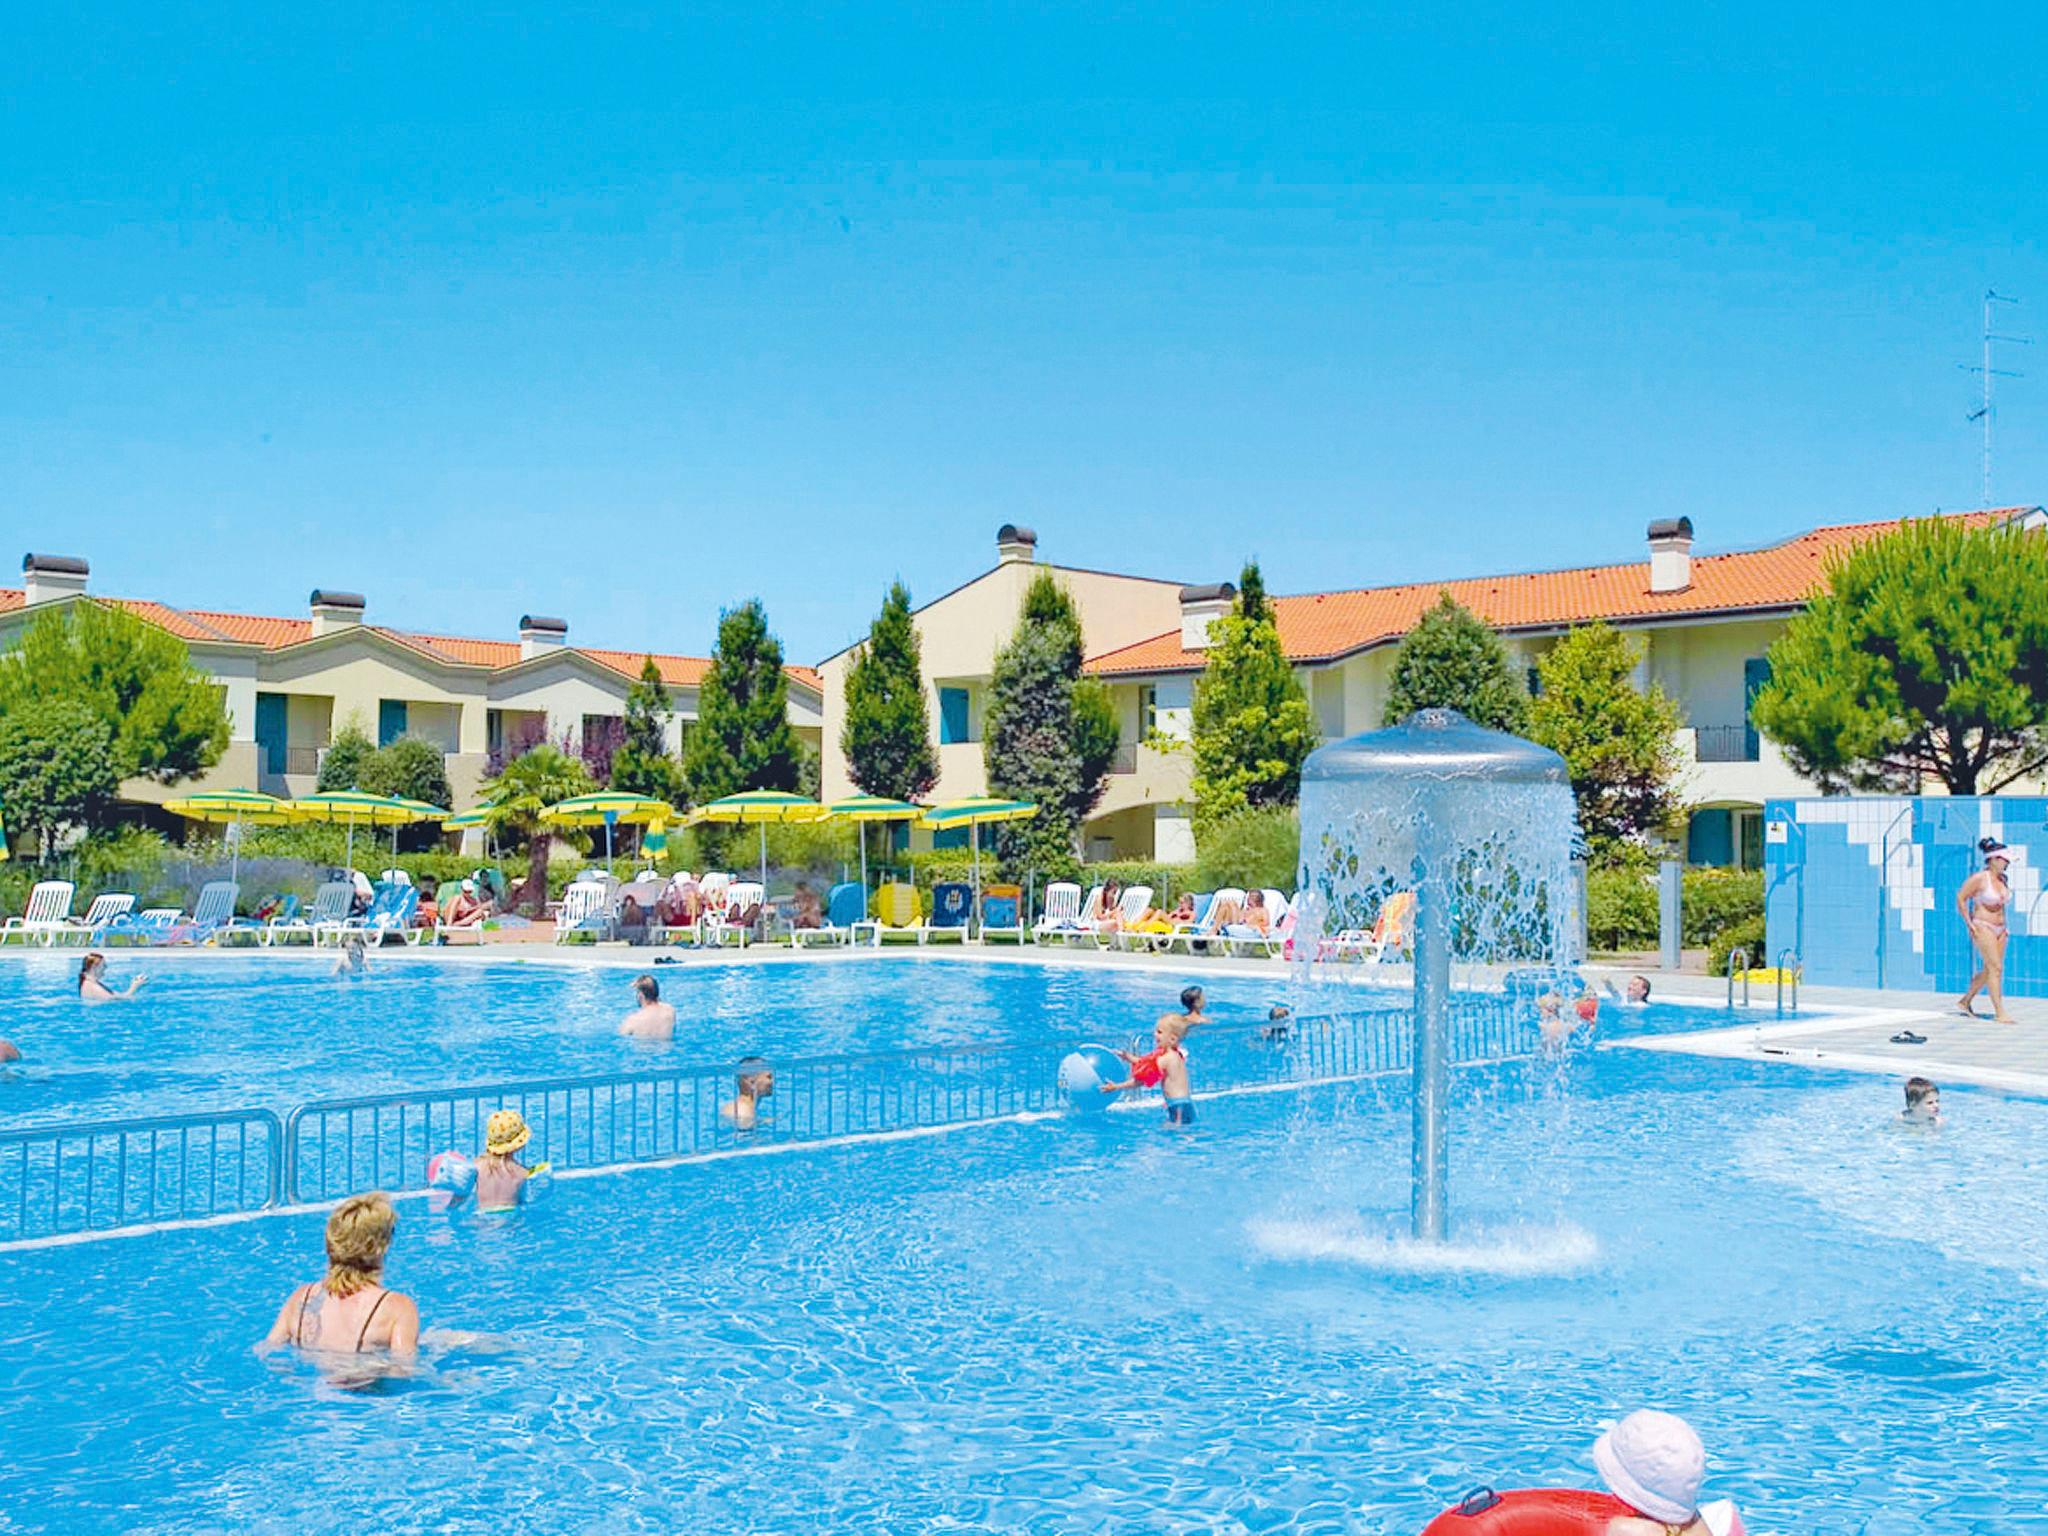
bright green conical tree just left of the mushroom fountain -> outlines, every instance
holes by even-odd
[[[1210,625],[1208,662],[1194,684],[1196,831],[1253,807],[1292,805],[1313,745],[1309,698],[1251,561],[1233,610]]]

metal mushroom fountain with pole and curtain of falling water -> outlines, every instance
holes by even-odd
[[[1450,709],[1331,741],[1303,768],[1300,889],[1309,899],[1296,954],[1341,954],[1341,944],[1325,940],[1370,930],[1391,899],[1413,893],[1411,1223],[1419,1241],[1450,1235],[1456,997],[1575,958],[1573,840],[1565,760]],[[1319,985],[1352,967],[1327,961],[1311,971]]]

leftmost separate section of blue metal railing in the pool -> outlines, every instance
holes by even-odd
[[[283,1186],[270,1110],[0,1130],[0,1243],[264,1210]]]

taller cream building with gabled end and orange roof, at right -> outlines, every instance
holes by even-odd
[[[1962,514],[2040,526],[2040,508]],[[1690,807],[1686,856],[1696,864],[1763,862],[1763,805],[1812,795],[1774,741],[1755,729],[1751,700],[1769,678],[1765,653],[1825,580],[1827,561],[1896,528],[1898,520],[1812,528],[1782,543],[1694,553],[1690,518],[1649,524],[1642,557],[1561,571],[1413,582],[1274,598],[1282,647],[1294,664],[1323,739],[1376,729],[1403,635],[1448,592],[1507,643],[1534,684],[1542,655],[1595,618],[1638,637],[1638,680],[1663,686],[1683,725],[1679,793]],[[1006,526],[997,565],[915,610],[928,707],[938,727],[938,795],[981,795],[979,709],[995,651],[1016,627],[1034,569],[1067,584],[1087,643],[1087,670],[1110,684],[1122,745],[1102,803],[1083,827],[1090,858],[1194,854],[1188,750],[1194,682],[1210,625],[1231,610],[1229,584],[1180,586],[1036,565],[1036,539]],[[840,754],[844,676],[852,651],[829,657],[823,682],[825,793],[850,793]]]

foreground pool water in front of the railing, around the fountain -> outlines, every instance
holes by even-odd
[[[393,1282],[494,1339],[373,1393],[250,1350],[317,1214],[14,1251],[0,1528],[1407,1534],[1585,1483],[1653,1403],[1751,1530],[2017,1530],[2048,1264],[1993,1227],[2040,1208],[2048,1106],[1950,1090],[1909,1135],[1894,1100],[1636,1051],[1468,1073],[1450,1268],[1399,1241],[1382,1085],[594,1176],[510,1221],[408,1200]]]

